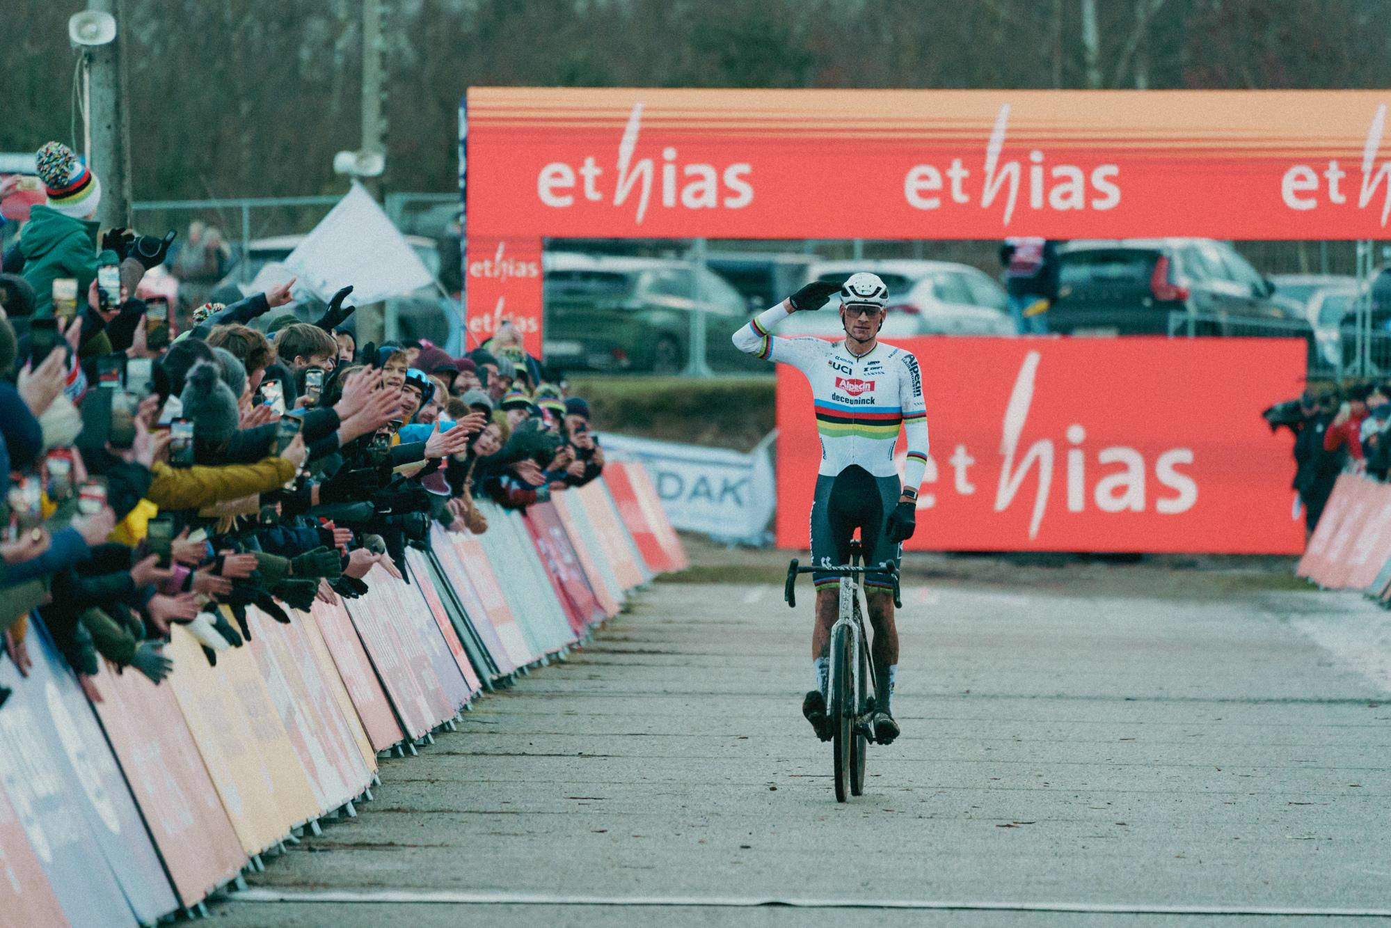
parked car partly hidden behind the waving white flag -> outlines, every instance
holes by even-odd
[[[406,235],[406,243],[420,257],[431,274],[440,277],[440,250],[434,239],[421,235]],[[267,264],[284,262],[289,253],[305,241],[303,235],[277,235],[274,238],[259,238],[250,242],[246,256],[228,271],[227,277],[217,282],[213,295],[230,292],[230,288],[246,292],[246,284],[256,280],[256,274]],[[388,310],[395,310],[399,338],[427,338],[437,345],[456,345],[455,338],[462,338],[458,326],[458,307],[440,296],[434,287],[423,287],[415,294],[399,299],[387,301]],[[289,307],[302,321],[313,321],[324,312],[324,305],[319,301],[299,302]],[[271,320],[284,314],[284,310],[267,313],[256,324],[266,326]],[[352,319],[348,321],[353,326]]]

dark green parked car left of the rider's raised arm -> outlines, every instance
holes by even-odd
[[[542,353],[552,369],[680,373],[700,310],[712,369],[766,370],[730,342],[748,303],[715,271],[684,260],[573,252],[547,252],[542,267]]]

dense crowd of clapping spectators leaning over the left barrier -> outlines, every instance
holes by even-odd
[[[248,607],[291,622],[378,565],[405,580],[433,522],[487,531],[476,499],[523,508],[602,470],[588,405],[508,326],[463,358],[359,345],[352,287],[300,323],[277,314],[285,284],[174,331],[132,296],[174,234],[102,232],[99,178],[63,145],[38,168],[46,203],[0,256],[0,629],[21,672],[35,612],[83,685],[99,659],[164,679],[174,623],[216,665]]]

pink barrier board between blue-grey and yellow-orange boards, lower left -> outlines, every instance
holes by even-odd
[[[172,686],[156,686],[102,661],[95,704],[107,742],[145,813],[154,846],[184,906],[193,906],[246,864],[217,787],[207,775]]]

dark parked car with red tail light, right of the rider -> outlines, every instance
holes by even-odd
[[[1245,321],[1241,334],[1255,334],[1252,321],[1289,320],[1289,306],[1273,299],[1274,292],[1274,284],[1225,242],[1079,239],[1059,248],[1049,328],[1072,335],[1163,335],[1168,314],[1184,312],[1199,316],[1202,334],[1228,334],[1227,320]]]

